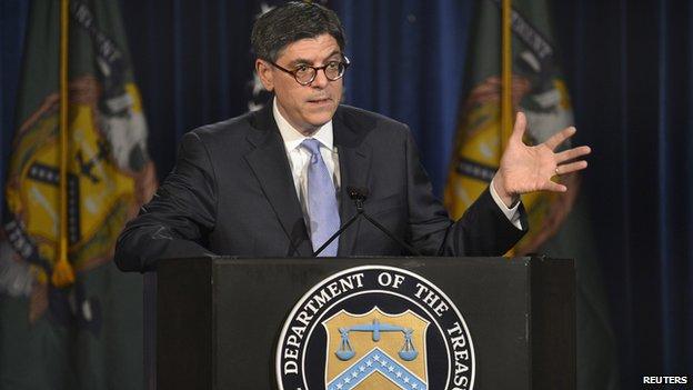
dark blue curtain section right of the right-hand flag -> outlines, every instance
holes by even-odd
[[[623,388],[693,376],[693,6],[556,1]]]

